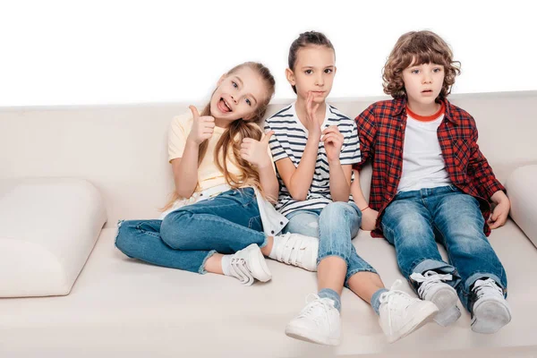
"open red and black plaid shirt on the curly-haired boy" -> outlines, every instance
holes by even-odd
[[[472,115],[444,100],[446,113],[439,125],[438,137],[447,174],[462,192],[479,200],[485,218],[484,233],[490,234],[490,197],[505,188],[494,176],[489,162],[477,145],[477,127]],[[403,169],[403,143],[406,128],[406,98],[379,101],[355,118],[360,138],[360,170],[371,158],[373,175],[369,206],[379,211],[372,236],[381,237],[382,213],[397,193]]]

